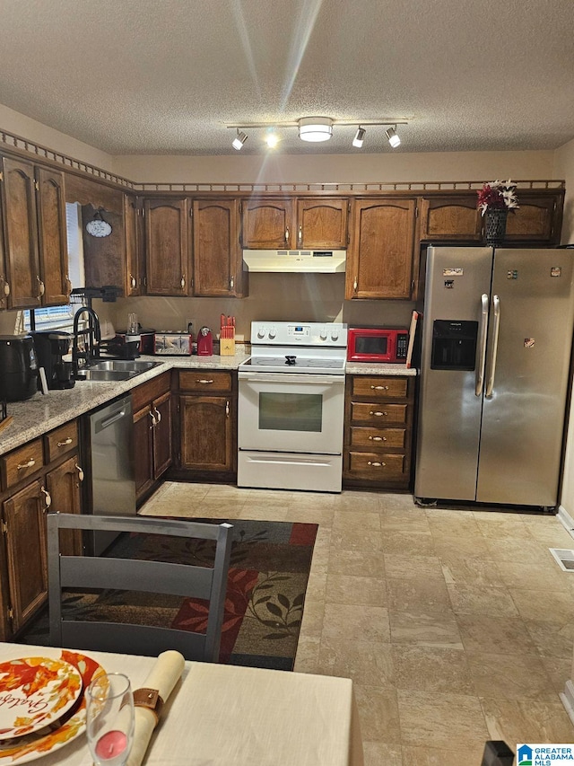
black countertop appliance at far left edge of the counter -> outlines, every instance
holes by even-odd
[[[0,399],[23,401],[38,390],[38,359],[31,335],[0,335]]]

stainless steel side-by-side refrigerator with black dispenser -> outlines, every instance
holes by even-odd
[[[428,249],[417,499],[557,505],[573,257]]]

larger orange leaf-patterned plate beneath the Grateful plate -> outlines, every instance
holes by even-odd
[[[79,672],[83,690],[87,689],[92,678],[105,673],[101,665],[91,657],[66,649],[57,651],[58,653],[61,652],[63,662],[73,665]],[[81,693],[75,701],[75,705],[49,726],[44,726],[33,734],[20,736],[9,742],[0,742],[0,764],[4,766],[8,763],[27,763],[48,753],[55,753],[65,744],[83,734],[85,726],[86,702],[83,693]]]

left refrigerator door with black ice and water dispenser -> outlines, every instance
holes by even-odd
[[[427,253],[416,497],[475,498],[491,269],[491,248],[429,248]],[[473,323],[476,341],[470,364],[468,355],[448,342],[458,326],[467,335],[466,323]]]

